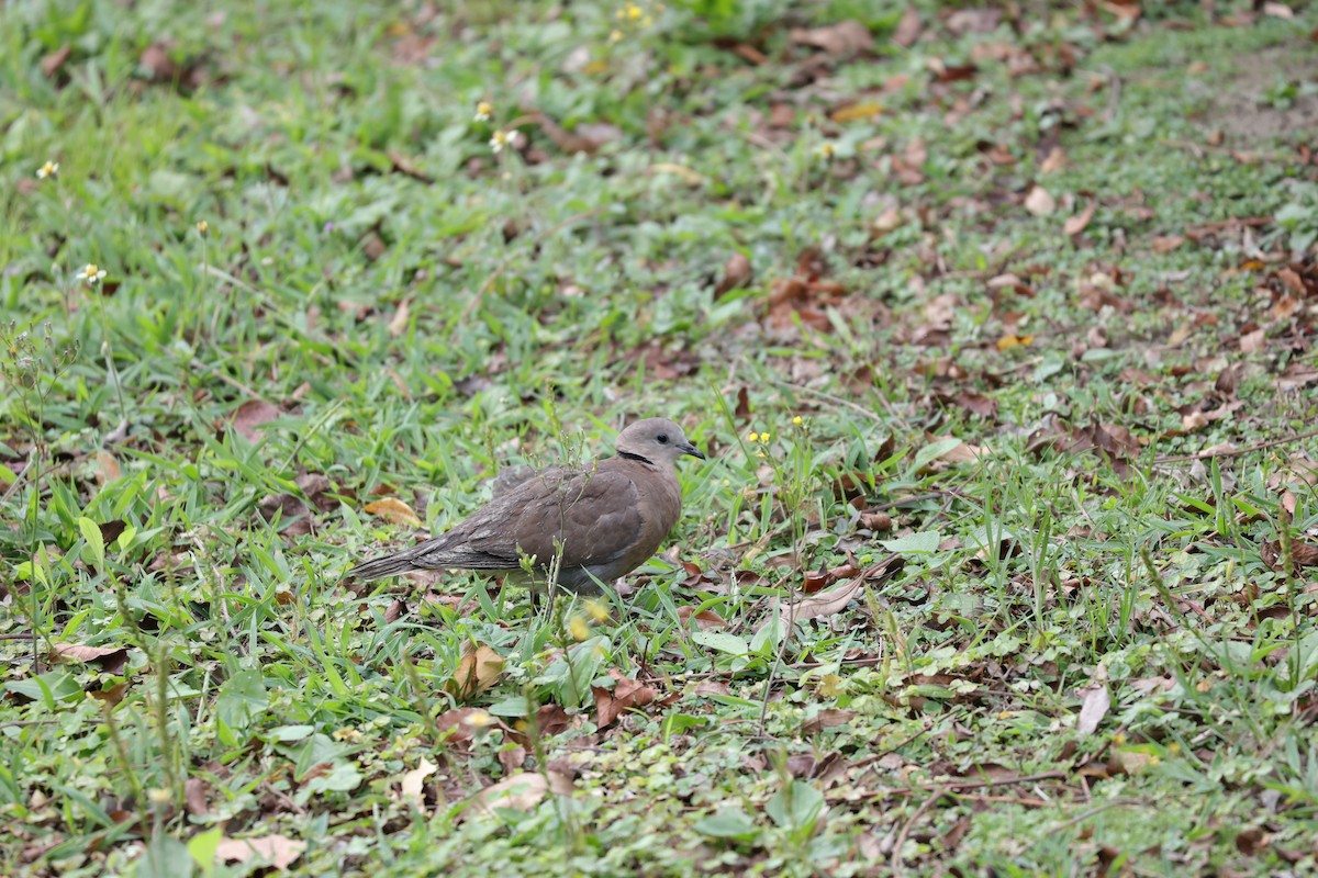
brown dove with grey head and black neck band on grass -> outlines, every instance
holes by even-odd
[[[443,534],[360,563],[347,579],[368,582],[418,570],[511,574],[538,588],[550,581],[590,595],[648,559],[681,516],[676,463],[706,459],[664,417],[626,426],[617,455],[587,466],[506,470],[484,507]],[[530,557],[526,575],[522,558]]]

